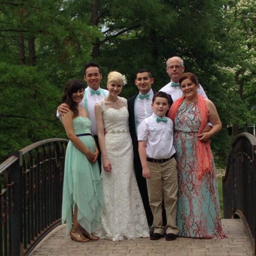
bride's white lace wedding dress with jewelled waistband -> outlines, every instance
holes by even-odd
[[[127,100],[119,99],[125,102],[125,107],[120,109],[106,109],[105,100],[99,101],[104,112],[105,144],[112,172],[105,172],[102,165],[105,206],[101,225],[94,233],[100,238],[113,241],[149,236],[148,222],[134,173]]]

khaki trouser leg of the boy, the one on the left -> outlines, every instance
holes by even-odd
[[[163,184],[162,184],[162,168],[161,164],[148,163],[151,178],[147,179],[148,199],[153,214],[154,233],[164,234],[162,204],[163,204]]]

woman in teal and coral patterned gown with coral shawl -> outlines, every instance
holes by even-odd
[[[216,172],[210,138],[221,130],[215,105],[197,94],[198,79],[192,73],[180,77],[183,97],[169,111],[175,124],[174,146],[177,154],[179,236],[221,239],[221,215]],[[212,123],[209,132],[202,132]]]

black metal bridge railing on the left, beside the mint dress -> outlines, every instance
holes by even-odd
[[[68,140],[42,140],[0,164],[0,255],[28,255],[61,220]]]

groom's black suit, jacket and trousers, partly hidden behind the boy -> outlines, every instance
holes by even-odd
[[[153,92],[156,93],[156,91],[153,91]],[[146,179],[143,178],[142,176],[142,166],[140,163],[140,156],[138,151],[138,138],[137,138],[136,129],[135,129],[134,101],[138,94],[139,93],[137,93],[136,95],[128,99],[129,130],[130,130],[132,145],[134,149],[134,170],[136,174],[136,179],[140,189],[140,194],[143,200],[145,212],[147,215],[148,225],[151,225],[153,223],[153,215],[148,203],[148,191],[147,191]],[[172,97],[170,96],[170,105],[172,105],[172,103],[173,103]]]

